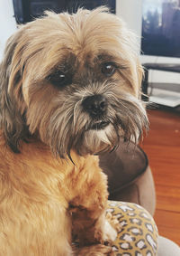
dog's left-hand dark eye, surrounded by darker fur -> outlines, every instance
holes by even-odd
[[[72,78],[71,76],[67,75],[63,71],[55,71],[54,73],[50,74],[47,78],[53,85],[56,86],[65,86],[67,84],[71,84]]]

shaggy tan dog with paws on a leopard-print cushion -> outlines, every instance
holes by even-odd
[[[1,255],[112,255],[117,231],[105,218],[98,155],[121,138],[138,142],[148,127],[136,45],[106,7],[47,12],[8,40],[0,65]]]

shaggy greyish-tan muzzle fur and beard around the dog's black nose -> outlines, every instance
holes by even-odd
[[[99,119],[91,118],[82,106],[85,97],[95,94],[103,95],[108,102],[106,114]],[[115,81],[92,83],[74,89],[70,96],[69,90],[64,90],[54,104],[57,108],[51,112],[48,127],[40,131],[40,137],[60,157],[70,156],[71,149],[82,156],[111,151],[120,137],[138,141],[143,128],[148,127],[141,101],[120,90]]]

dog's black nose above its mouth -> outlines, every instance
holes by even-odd
[[[86,97],[82,104],[93,117],[101,117],[107,109],[107,100],[101,94]]]

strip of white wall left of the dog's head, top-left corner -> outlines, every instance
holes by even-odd
[[[16,30],[13,0],[0,0],[0,60],[8,37]]]

